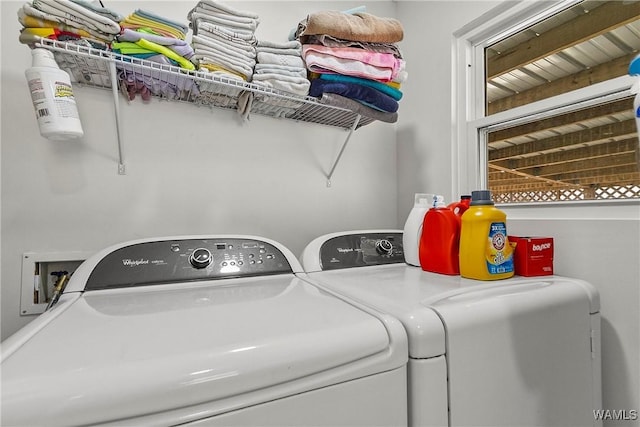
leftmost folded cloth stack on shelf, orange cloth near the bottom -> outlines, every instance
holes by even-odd
[[[48,38],[107,49],[120,33],[121,19],[119,13],[83,0],[32,0],[18,10],[24,27],[19,40],[33,45]]]

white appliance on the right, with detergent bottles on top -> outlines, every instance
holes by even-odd
[[[428,273],[404,263],[399,230],[321,236],[301,261],[314,283],[404,324],[409,425],[601,425],[599,296],[590,284]]]

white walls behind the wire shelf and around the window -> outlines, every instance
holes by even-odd
[[[323,173],[346,134],[314,125],[260,117],[240,125],[224,111],[123,103],[127,175],[119,176],[110,95],[87,89],[77,91],[83,140],[46,141],[38,134],[23,76],[29,52],[17,43],[15,11],[22,2],[0,4],[5,338],[30,320],[18,315],[26,251],[96,250],[143,236],[233,232],[281,240],[297,253],[324,232],[402,227],[415,192],[457,197],[450,194],[452,33],[498,2],[367,3],[372,13],[395,15],[403,23],[409,80],[399,123],[358,130],[329,189]],[[138,7],[114,4],[123,12]],[[314,6],[362,3],[240,4],[260,13],[259,35],[275,40]],[[189,5],[144,3],[185,21]],[[172,120],[174,126],[163,126]],[[204,188],[194,190],[194,181],[204,181]],[[507,209],[510,232],[553,236],[557,273],[599,289],[604,407],[638,409],[638,215],[633,208],[623,219],[611,211],[585,218],[582,209],[550,209]]]

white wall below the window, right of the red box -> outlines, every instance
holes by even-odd
[[[636,204],[565,212],[572,209],[512,206],[504,211],[510,233],[554,238],[556,274],[598,289],[603,408],[640,410],[640,209]],[[605,425],[639,426],[640,420]]]

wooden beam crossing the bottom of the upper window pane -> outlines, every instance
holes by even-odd
[[[638,4],[640,5],[640,2]],[[604,64],[596,65],[593,68],[580,71],[576,74],[533,87],[515,95],[497,99],[489,103],[487,106],[487,114],[491,115],[500,111],[506,111],[541,99],[550,98],[555,95],[587,87],[594,83],[610,80],[614,77],[624,76],[628,72],[629,63],[636,57],[636,55],[637,52],[631,53]]]

